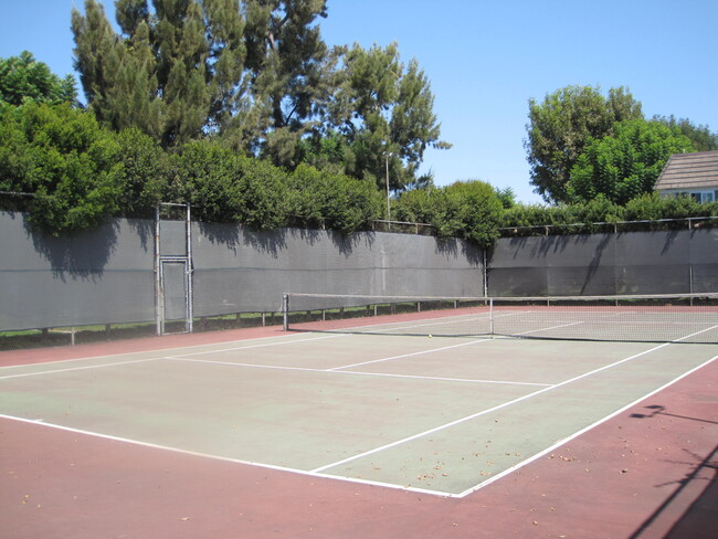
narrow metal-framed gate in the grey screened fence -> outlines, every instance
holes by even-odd
[[[178,208],[181,219],[171,219]],[[175,215],[177,216],[177,215]],[[192,331],[192,237],[189,204],[161,204],[155,220],[157,335]]]

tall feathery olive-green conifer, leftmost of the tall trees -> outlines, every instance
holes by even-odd
[[[244,60],[236,0],[118,0],[117,35],[96,0],[73,9],[75,66],[89,108],[115,130],[165,147],[200,138],[231,113]]]

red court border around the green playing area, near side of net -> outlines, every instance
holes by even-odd
[[[277,328],[0,353],[0,367]],[[718,360],[464,498],[0,419],[3,538],[712,538]]]

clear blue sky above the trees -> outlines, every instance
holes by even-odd
[[[104,1],[114,22],[112,0]],[[74,73],[72,7],[0,0],[0,57],[28,50]],[[626,86],[647,117],[718,130],[718,0],[328,0],[329,44],[399,44],[429,76],[450,150],[429,150],[436,184],[481,179],[540,202],[524,139],[528,101],[563,86]],[[78,85],[82,94],[82,88]]]

